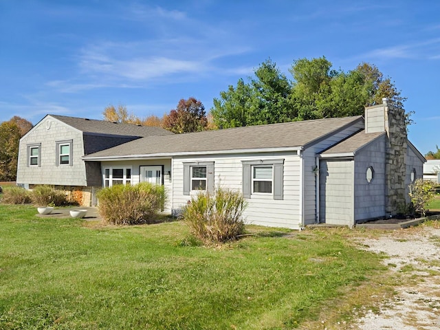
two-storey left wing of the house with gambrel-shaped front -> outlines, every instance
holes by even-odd
[[[94,191],[102,187],[101,166],[84,162],[82,157],[152,135],[173,133],[158,127],[46,115],[20,140],[17,184],[25,188],[50,184],[80,191],[81,202],[91,205]]]

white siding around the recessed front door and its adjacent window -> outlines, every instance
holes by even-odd
[[[101,173],[104,173],[104,168],[121,168],[121,167],[131,167],[131,184],[138,184],[140,182],[140,166],[164,166],[164,173],[168,170],[171,171],[171,159],[148,159],[148,160],[125,160],[125,161],[113,161],[113,162],[101,162]],[[162,175],[164,175],[162,173]],[[171,172],[173,176],[173,172]],[[171,212],[171,206],[173,203],[172,194],[172,181],[164,178],[164,187],[167,196],[167,201],[165,203],[165,211]]]

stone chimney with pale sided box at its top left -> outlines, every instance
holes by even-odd
[[[406,124],[405,111],[388,103],[365,108],[365,133],[386,132],[385,181],[386,213],[396,214],[406,202]]]

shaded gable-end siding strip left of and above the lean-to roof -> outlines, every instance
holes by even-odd
[[[316,166],[316,155],[321,151],[333,146],[338,142],[344,140],[344,138],[352,135],[353,133],[364,128],[364,123],[359,122],[353,126],[348,127],[334,135],[331,135],[325,140],[317,142],[312,146],[309,146],[305,151],[303,151],[303,162],[304,162],[304,225],[309,225],[315,223],[318,219],[318,214],[316,214],[316,180],[318,179],[315,175],[314,168]]]

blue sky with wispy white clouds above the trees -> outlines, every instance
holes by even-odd
[[[109,104],[162,117],[212,99],[271,58],[349,71],[373,63],[415,111],[409,137],[440,145],[440,1],[0,0],[0,122],[102,119]]]

